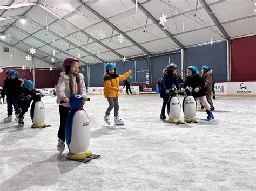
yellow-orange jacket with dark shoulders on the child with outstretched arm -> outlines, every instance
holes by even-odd
[[[126,72],[123,75],[117,74],[117,77],[113,78],[109,74],[104,74],[104,96],[119,97],[119,81],[125,80],[130,75],[130,72]]]

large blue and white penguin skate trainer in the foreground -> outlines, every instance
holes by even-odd
[[[89,118],[83,106],[89,98],[73,94],[69,100],[71,110],[66,119],[65,126],[66,144],[68,145],[69,153],[66,155],[66,158],[87,162],[91,159],[85,159],[86,157],[99,157],[99,155],[94,155],[91,151],[87,150],[90,143],[91,128]]]

